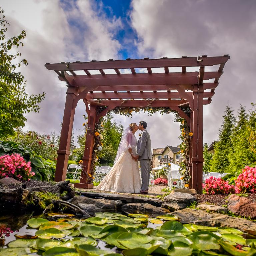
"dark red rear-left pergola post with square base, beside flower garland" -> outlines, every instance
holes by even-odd
[[[93,146],[94,146],[94,128],[95,122],[97,118],[97,106],[91,105],[90,111],[90,118],[88,118],[88,129],[86,132],[86,140],[85,140],[85,147],[84,147],[84,156],[82,157],[83,160],[83,169],[87,173],[91,172],[91,162],[92,162],[92,153],[93,153]],[[89,180],[87,175],[82,172],[80,183],[75,183],[76,188],[93,188],[93,183],[88,183]]]

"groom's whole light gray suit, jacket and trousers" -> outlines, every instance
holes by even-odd
[[[147,190],[151,169],[151,140],[147,130],[143,130],[138,141],[137,154],[139,155],[142,186],[141,190]]]

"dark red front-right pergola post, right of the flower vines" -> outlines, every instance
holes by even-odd
[[[203,182],[203,85],[193,90],[192,188],[202,194]]]

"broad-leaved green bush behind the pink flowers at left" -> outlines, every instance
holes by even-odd
[[[0,156],[11,155],[12,153],[18,153],[23,156],[25,161],[31,162],[32,172],[35,173],[32,179],[54,180],[56,164],[53,161],[45,160],[42,156],[35,154],[30,147],[21,143],[0,140]]]

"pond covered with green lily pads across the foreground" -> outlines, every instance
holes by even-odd
[[[256,233],[181,221],[172,214],[119,212],[86,219],[61,213],[8,215],[0,218],[0,256],[256,254]]]

